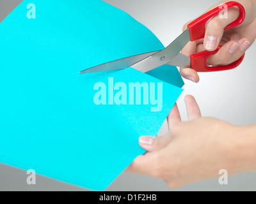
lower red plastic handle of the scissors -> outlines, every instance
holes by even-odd
[[[190,68],[195,69],[198,72],[207,72],[207,71],[223,71],[228,69],[234,69],[244,59],[244,54],[242,57],[240,57],[236,62],[233,62],[231,64],[223,65],[223,66],[207,66],[207,59],[209,56],[216,54],[221,48],[221,45],[214,51],[209,52],[207,50],[198,52],[196,54],[190,55]]]

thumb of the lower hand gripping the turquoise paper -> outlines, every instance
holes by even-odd
[[[166,134],[164,136],[141,136],[139,138],[139,143],[141,148],[152,152],[155,150],[162,149],[168,145],[171,141],[171,136]]]

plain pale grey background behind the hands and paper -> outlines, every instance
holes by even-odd
[[[198,17],[216,0],[105,0],[146,25],[166,46],[182,31],[182,25]],[[0,18],[8,15],[20,0],[0,0]],[[33,0],[31,0],[33,3]],[[184,80],[184,92],[178,100],[182,119],[187,120],[184,96],[192,94],[200,105],[202,115],[216,117],[237,125],[256,123],[256,43],[246,52],[239,68],[218,73],[200,73],[200,82]],[[166,122],[160,135],[166,133]],[[216,147],[218,148],[218,147]],[[237,150],[239,151],[239,150]],[[36,185],[26,184],[25,171],[0,164],[0,191],[84,191],[36,176]],[[228,178],[228,185],[220,186],[218,179],[170,189],[161,179],[122,173],[108,191],[255,191],[256,173],[242,173]]]

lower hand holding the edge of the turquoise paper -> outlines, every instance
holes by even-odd
[[[147,152],[126,171],[161,178],[170,187],[180,187],[220,177],[221,169],[228,175],[243,172],[248,170],[248,163],[255,163],[246,154],[243,128],[202,118],[193,96],[186,96],[185,101],[189,122],[180,122],[175,105],[167,118],[169,132],[160,137],[141,136],[140,146]]]

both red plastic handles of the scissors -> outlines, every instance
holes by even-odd
[[[245,18],[245,10],[242,4],[237,3],[236,1],[229,1],[226,3],[227,8],[230,8],[232,6],[237,6],[240,11],[240,15],[231,24],[227,25],[224,30],[230,29],[232,27],[236,27],[237,25],[240,25]],[[189,35],[190,35],[190,40],[195,41],[195,40],[200,40],[204,38],[205,36],[205,24],[207,23],[208,20],[210,20],[212,17],[220,13],[220,11],[223,11],[223,8],[217,7],[214,8],[211,11],[208,11],[201,17],[197,18],[193,22],[191,22],[188,25],[189,29]],[[207,66],[207,59],[209,56],[216,54],[220,50],[221,46],[219,46],[216,50],[209,52],[209,51],[203,51],[203,52],[198,52],[196,54],[190,55],[191,58],[191,64],[190,67],[192,69],[195,69],[196,71],[200,72],[205,72],[205,71],[223,71],[223,70],[228,70],[228,69],[233,69],[239,66],[241,62],[244,59],[244,55],[238,59],[236,62],[233,62],[232,64],[228,64],[225,66]]]

